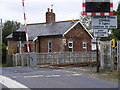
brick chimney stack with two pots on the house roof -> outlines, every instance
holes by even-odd
[[[53,9],[48,8],[46,12],[46,23],[53,23],[55,22],[55,13],[53,13]]]

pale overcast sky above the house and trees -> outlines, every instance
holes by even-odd
[[[120,0],[113,0],[116,10]],[[53,7],[51,5],[53,4]],[[56,21],[79,19],[82,0],[25,0],[27,23],[45,22],[47,8],[53,8]],[[13,20],[24,24],[22,0],[0,0],[0,19]]]

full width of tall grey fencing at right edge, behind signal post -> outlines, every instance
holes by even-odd
[[[100,64],[103,70],[120,69],[120,41],[112,48],[111,41],[100,41]]]

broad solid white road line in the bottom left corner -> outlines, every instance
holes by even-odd
[[[18,88],[18,89],[19,88],[27,88],[28,90],[31,90],[28,87],[26,87],[25,85],[15,81],[15,80],[12,80],[9,77],[5,77],[2,75],[0,75],[0,83],[2,83],[3,85],[5,85],[8,88]]]

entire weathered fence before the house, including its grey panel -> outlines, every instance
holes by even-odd
[[[13,55],[13,66],[59,65],[94,61],[96,61],[96,52],[32,52]]]

